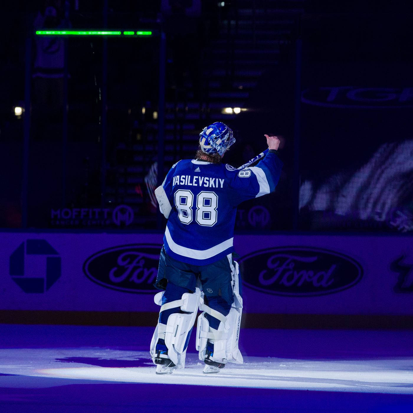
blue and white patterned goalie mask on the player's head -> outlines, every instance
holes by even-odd
[[[199,134],[199,146],[206,154],[217,153],[222,156],[233,143],[235,143],[233,131],[225,123],[214,122]]]

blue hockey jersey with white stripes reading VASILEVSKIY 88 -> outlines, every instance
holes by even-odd
[[[164,235],[166,253],[206,265],[232,252],[237,205],[272,192],[281,168],[274,152],[241,171],[199,159],[178,161],[162,184],[172,206]]]

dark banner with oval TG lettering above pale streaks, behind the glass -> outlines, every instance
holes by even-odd
[[[412,64],[349,53],[303,62],[300,229],[413,233]]]

